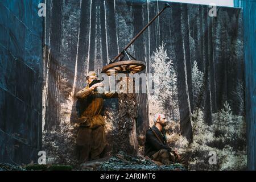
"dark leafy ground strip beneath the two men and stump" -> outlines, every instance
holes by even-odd
[[[77,166],[58,164],[29,164],[27,166],[13,166],[11,164],[0,164],[0,171],[26,171],[26,170],[79,170],[79,171],[185,171],[187,168],[182,164],[170,164],[168,166],[155,164],[153,160],[143,156],[130,156],[125,152],[118,152],[112,157],[92,160]]]

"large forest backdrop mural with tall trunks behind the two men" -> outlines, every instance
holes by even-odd
[[[163,1],[46,0],[44,19],[43,149],[49,163],[76,163],[76,97],[88,71],[101,72],[163,8]],[[170,2],[169,2],[170,3]],[[138,154],[152,117],[168,117],[171,147],[187,154],[190,169],[245,169],[245,96],[242,10],[170,3],[129,48],[143,73],[159,74],[158,97],[135,94],[136,105],[104,102],[110,155],[122,150],[122,109],[133,110]],[[147,83],[142,83],[147,84]],[[134,127],[135,126],[135,127]],[[126,132],[126,131],[123,131]],[[218,156],[208,163],[209,152]]]

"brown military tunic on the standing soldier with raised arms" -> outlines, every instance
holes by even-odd
[[[78,99],[85,100],[85,109],[80,115],[79,120],[83,126],[94,129],[98,126],[105,125],[104,118],[101,115],[104,98],[114,98],[118,95],[117,93],[111,92],[91,92],[89,86],[86,86],[84,89],[77,92],[76,96]]]

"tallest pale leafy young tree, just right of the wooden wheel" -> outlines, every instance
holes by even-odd
[[[158,88],[155,94],[149,96],[152,114],[162,112],[166,115],[174,114],[177,109],[177,76],[172,60],[162,43],[151,56],[151,67],[154,74],[158,74]],[[152,106],[154,108],[152,108]],[[150,112],[151,113],[151,112]],[[176,114],[177,115],[177,114]]]

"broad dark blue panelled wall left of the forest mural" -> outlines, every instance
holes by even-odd
[[[37,162],[41,147],[40,2],[0,1],[0,163]]]

